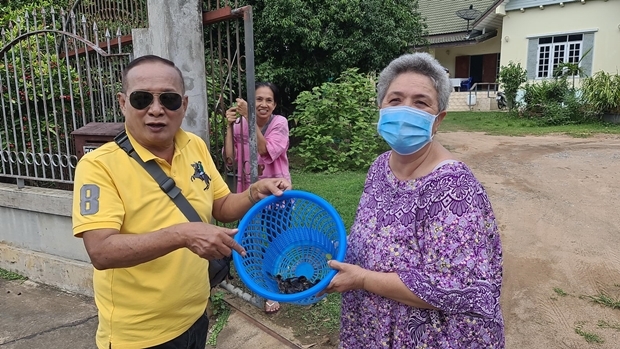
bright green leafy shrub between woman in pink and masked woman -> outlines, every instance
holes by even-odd
[[[375,79],[348,69],[335,82],[304,91],[295,100],[291,149],[307,171],[367,169],[379,150]]]

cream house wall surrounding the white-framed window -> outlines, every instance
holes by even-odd
[[[512,2],[511,2],[512,3]],[[593,45],[584,59],[591,59],[591,74],[603,70],[620,71],[620,0],[587,0],[508,11],[504,17],[500,65],[510,61],[528,66],[528,50],[535,49],[531,38],[572,33],[584,35],[583,52]],[[532,57],[529,55],[529,63]],[[528,72],[531,77],[533,72]]]

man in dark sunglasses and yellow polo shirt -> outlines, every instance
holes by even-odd
[[[264,179],[229,191],[207,146],[181,130],[183,76],[169,60],[143,56],[123,72],[118,95],[125,129],[143,161],[154,159],[204,222],[240,219],[256,201],[290,189]],[[193,176],[202,166],[206,176]],[[100,349],[205,348],[208,260],[245,251],[236,229],[188,222],[136,160],[116,143],[86,154],[76,168],[73,234],[95,267]]]

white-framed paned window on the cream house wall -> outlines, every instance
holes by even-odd
[[[581,57],[583,34],[548,36],[538,39],[536,77],[552,78],[560,63],[577,63]]]

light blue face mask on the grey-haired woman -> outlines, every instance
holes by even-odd
[[[390,148],[400,155],[411,155],[433,139],[436,115],[407,106],[379,111],[377,131]]]

